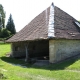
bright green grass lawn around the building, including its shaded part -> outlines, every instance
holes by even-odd
[[[79,58],[38,67],[6,57],[9,52],[10,44],[0,43],[0,78],[4,76],[0,80],[80,80]],[[24,65],[26,68],[17,64]]]

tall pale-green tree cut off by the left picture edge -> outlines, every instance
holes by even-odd
[[[5,11],[1,4],[0,4],[0,28],[5,28]]]

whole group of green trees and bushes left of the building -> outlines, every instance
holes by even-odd
[[[16,33],[14,21],[10,14],[7,25],[5,26],[6,13],[3,6],[0,4],[0,38],[9,38]]]

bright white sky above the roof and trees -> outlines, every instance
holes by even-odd
[[[18,32],[52,2],[75,19],[80,20],[80,0],[0,0],[6,12],[5,25],[11,13]]]

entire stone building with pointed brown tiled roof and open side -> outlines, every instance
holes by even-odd
[[[58,62],[80,54],[80,23],[52,3],[7,42],[13,57]]]

